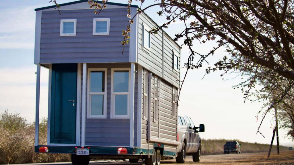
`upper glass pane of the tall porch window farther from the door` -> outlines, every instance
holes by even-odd
[[[114,71],[113,79],[114,92],[128,92],[128,70]]]

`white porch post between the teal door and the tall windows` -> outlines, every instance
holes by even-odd
[[[82,130],[81,130],[81,146],[85,146],[86,139],[86,76],[87,64],[83,63],[83,87],[82,87]]]

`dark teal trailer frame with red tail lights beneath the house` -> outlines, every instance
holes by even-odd
[[[46,149],[44,149],[46,148]],[[35,152],[40,153],[61,153],[61,154],[76,154],[76,150],[78,148],[82,148],[80,146],[35,146]],[[116,158],[123,159],[126,157],[129,158],[138,158],[142,155],[148,155],[148,149],[142,148],[133,148],[133,147],[93,147],[93,146],[85,146],[83,148],[89,149],[89,156],[95,158]],[[127,150],[126,154],[118,154],[120,148],[125,148]],[[163,148],[163,147],[162,147]],[[153,155],[155,152],[154,149],[149,149],[149,155]],[[177,155],[176,152],[165,151],[163,150],[163,154],[161,156],[166,157],[175,157]]]

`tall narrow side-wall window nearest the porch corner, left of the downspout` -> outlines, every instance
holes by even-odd
[[[143,70],[143,119],[148,120],[148,70]],[[147,78],[146,78],[147,76]],[[145,93],[146,92],[146,93]]]

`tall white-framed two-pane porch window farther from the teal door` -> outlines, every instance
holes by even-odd
[[[130,118],[130,68],[111,69],[111,118]]]

